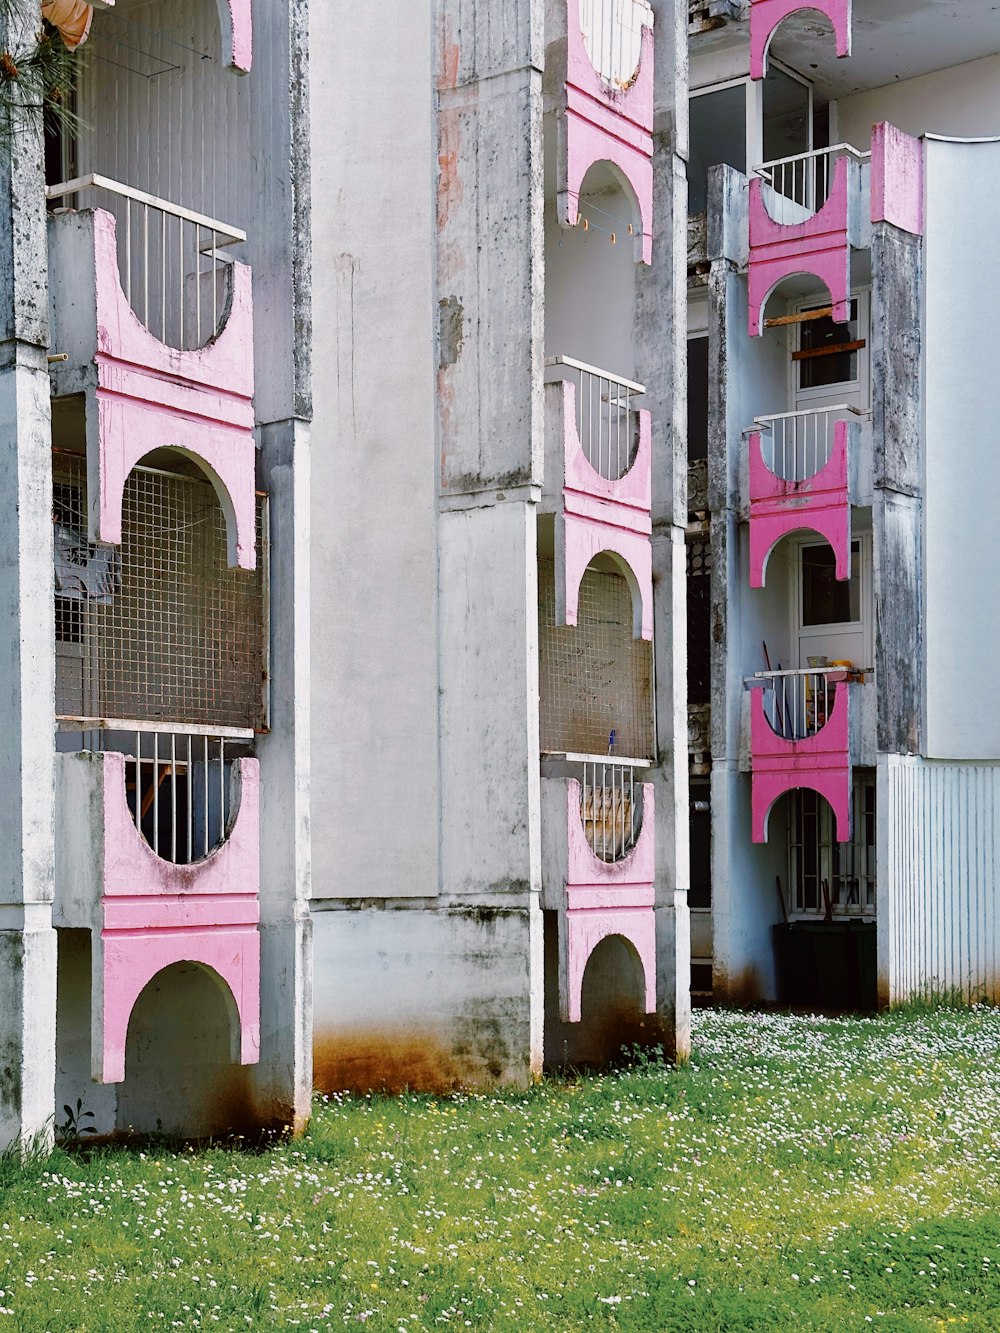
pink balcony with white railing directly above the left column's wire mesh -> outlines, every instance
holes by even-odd
[[[107,207],[49,220],[53,393],[87,400],[92,541],[121,541],[125,479],[157,448],[211,479],[229,563],[255,555],[251,271],[225,248],[245,233],[100,176],[49,189]],[[111,211],[109,211],[111,209]]]

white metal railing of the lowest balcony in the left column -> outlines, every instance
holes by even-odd
[[[125,756],[136,830],[173,865],[203,860],[228,837],[240,805],[239,757],[251,744],[252,734],[175,732],[149,722],[105,722],[80,733],[80,749]]]

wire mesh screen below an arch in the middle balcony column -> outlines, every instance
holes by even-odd
[[[539,561],[539,694],[543,750],[652,757],[652,644],[632,637],[621,575],[588,569],[577,625],[560,627],[555,561]]]

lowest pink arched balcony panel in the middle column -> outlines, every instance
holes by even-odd
[[[656,1010],[655,797],[643,786],[643,826],[621,861],[603,861],[587,845],[580,820],[580,782],[567,782],[567,908],[560,917],[564,1022],[583,1017],[583,981],[591,954],[611,936],[632,945],[643,968],[645,1012]]]

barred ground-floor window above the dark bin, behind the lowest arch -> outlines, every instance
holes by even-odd
[[[833,812],[816,792],[792,792],[789,801],[788,878],[792,886],[792,909],[801,914],[825,914],[829,894],[829,905],[836,916],[873,916],[875,777],[859,776],[855,781],[853,837],[849,842],[836,841]]]

